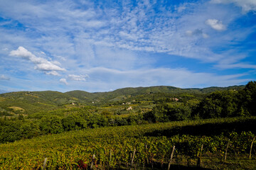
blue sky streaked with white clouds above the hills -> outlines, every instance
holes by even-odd
[[[256,79],[256,0],[0,0],[0,91]]]

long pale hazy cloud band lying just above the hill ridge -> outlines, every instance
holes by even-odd
[[[90,74],[90,79],[87,83],[83,84],[87,91],[98,88],[103,91],[110,89],[119,89],[123,87],[137,87],[137,86],[161,86],[170,85],[181,88],[189,87],[203,87],[206,84],[215,86],[218,81],[218,86],[229,86],[228,84],[240,84],[249,79],[238,79],[246,74],[233,74],[219,76],[217,74],[210,74],[204,72],[191,72],[188,69],[137,69],[120,71],[118,69],[107,69],[104,67],[95,67],[92,69],[85,69],[82,72]],[[186,83],[185,83],[186,82]],[[101,84],[98,87],[97,84]],[[82,85],[77,82],[70,82],[70,86],[74,88]]]

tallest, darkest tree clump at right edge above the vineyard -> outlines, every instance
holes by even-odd
[[[215,91],[198,105],[201,118],[226,118],[255,115],[256,82],[250,81],[240,91]]]

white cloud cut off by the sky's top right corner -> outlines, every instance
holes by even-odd
[[[256,11],[255,0],[211,0],[210,2],[214,4],[235,4],[236,6],[242,8],[244,13]]]

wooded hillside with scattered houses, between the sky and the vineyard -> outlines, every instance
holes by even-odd
[[[255,115],[255,81],[228,88],[153,86],[0,96],[0,142],[86,128]]]

